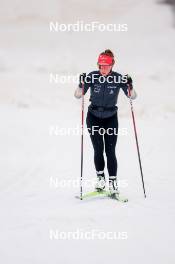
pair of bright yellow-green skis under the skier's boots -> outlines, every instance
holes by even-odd
[[[120,194],[111,194],[110,191],[93,191],[85,193],[82,196],[82,200],[86,198],[93,198],[93,197],[109,197],[110,199],[117,200],[119,202],[126,203],[128,202],[128,198],[121,196]],[[80,196],[76,196],[76,198],[81,199]]]

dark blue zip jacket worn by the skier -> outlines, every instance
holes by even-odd
[[[82,84],[79,87],[82,88]],[[99,118],[111,117],[117,112],[116,104],[120,89],[126,96],[128,95],[127,82],[123,81],[121,74],[114,71],[106,77],[99,71],[90,72],[85,80],[84,94],[89,88],[91,104],[88,110]]]

